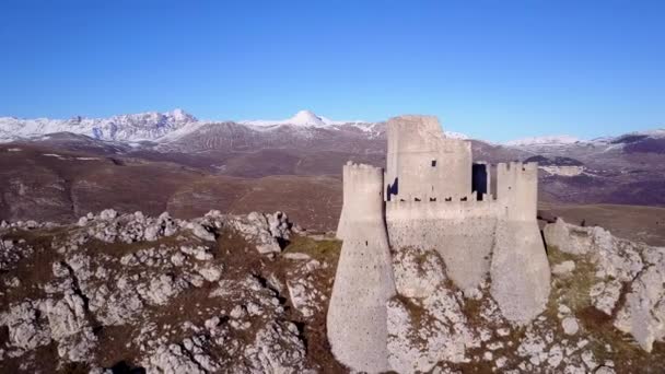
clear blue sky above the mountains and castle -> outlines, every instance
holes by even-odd
[[[665,127],[665,1],[0,1],[0,116]]]

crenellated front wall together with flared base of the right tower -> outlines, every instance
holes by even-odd
[[[545,309],[550,269],[538,224],[514,220],[502,201],[388,201],[390,245],[436,250],[463,291],[491,281],[506,319],[525,324]]]

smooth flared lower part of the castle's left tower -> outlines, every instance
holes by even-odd
[[[327,315],[335,358],[359,372],[389,371],[386,303],[395,295],[383,221],[349,222]]]

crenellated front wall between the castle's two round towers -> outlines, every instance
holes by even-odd
[[[455,284],[470,290],[489,273],[502,211],[492,200],[388,201],[386,225],[393,247],[439,252]]]

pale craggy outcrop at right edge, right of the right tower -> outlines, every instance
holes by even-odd
[[[544,230],[550,250],[588,260],[593,307],[616,328],[651,351],[665,338],[665,248],[612,236],[602,227],[580,227],[558,219]],[[620,302],[621,301],[621,302]]]

